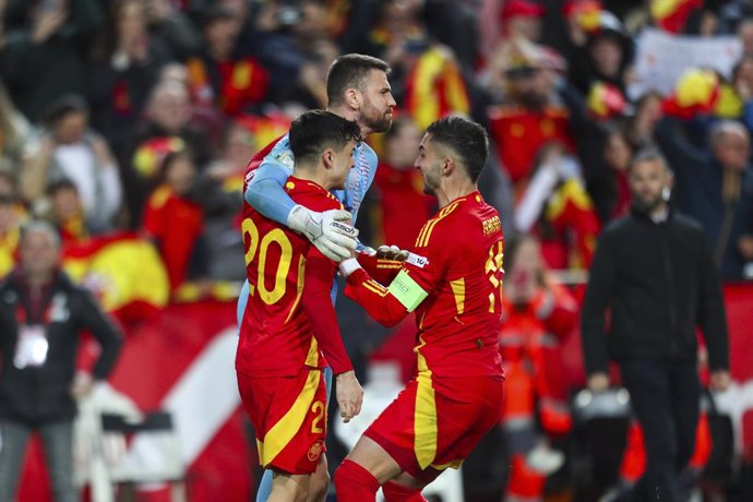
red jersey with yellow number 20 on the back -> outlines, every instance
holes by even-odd
[[[312,181],[290,177],[285,190],[313,211],[342,208]],[[330,299],[337,265],[306,237],[248,204],[242,231],[250,292],[236,370],[249,376],[282,376],[298,374],[302,366],[323,368],[320,344],[335,374],[350,370]]]

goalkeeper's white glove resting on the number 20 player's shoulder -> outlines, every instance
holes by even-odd
[[[356,249],[358,229],[349,225],[350,213],[331,210],[323,213],[297,205],[288,216],[288,227],[303,234],[322,254],[339,262]]]

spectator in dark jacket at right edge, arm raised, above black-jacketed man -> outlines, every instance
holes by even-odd
[[[707,153],[678,125],[666,117],[656,128],[656,141],[674,171],[677,207],[703,226],[724,279],[753,276],[746,272],[753,262],[750,133],[740,122],[719,121],[712,128]]]

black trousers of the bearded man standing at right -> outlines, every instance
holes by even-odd
[[[695,449],[701,384],[693,361],[635,358],[620,361],[622,383],[643,428],[646,470],[635,501],[685,502],[680,482]]]

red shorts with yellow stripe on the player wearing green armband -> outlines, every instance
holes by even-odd
[[[411,380],[363,435],[375,441],[403,470],[431,482],[447,467],[459,467],[498,423],[502,376]]]

